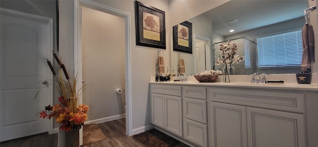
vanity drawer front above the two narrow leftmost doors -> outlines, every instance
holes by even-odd
[[[153,93],[181,96],[181,86],[166,85],[166,84],[151,84]]]

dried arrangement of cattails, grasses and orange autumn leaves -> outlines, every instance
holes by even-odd
[[[60,58],[55,53],[53,53],[53,56],[60,67],[58,75],[51,62],[47,60],[47,63],[54,75],[54,81],[58,84],[55,87],[61,94],[58,98],[60,103],[55,104],[53,107],[51,105],[45,106],[45,109],[40,113],[40,117],[43,119],[55,118],[56,123],[62,123],[60,130],[68,132],[72,131],[72,128],[83,125],[87,120],[88,106],[79,104],[78,98],[81,92],[76,91],[77,75],[73,79],[70,79],[66,67]],[[81,91],[82,88],[79,90]]]

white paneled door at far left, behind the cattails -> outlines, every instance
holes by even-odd
[[[51,18],[1,8],[0,141],[48,132],[39,112],[52,103]],[[52,60],[51,60],[52,61]],[[48,84],[44,81],[47,81]],[[42,83],[43,82],[43,83]],[[46,87],[44,87],[46,86]],[[35,94],[41,88],[38,96]]]

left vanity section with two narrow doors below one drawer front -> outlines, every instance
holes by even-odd
[[[151,84],[151,123],[182,137],[181,86]]]

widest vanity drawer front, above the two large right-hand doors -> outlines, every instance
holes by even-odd
[[[292,90],[260,90],[257,88],[208,89],[211,101],[290,112],[305,112],[304,93]]]

